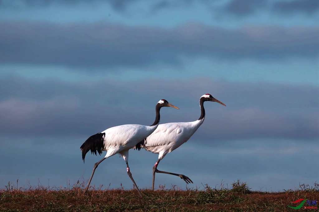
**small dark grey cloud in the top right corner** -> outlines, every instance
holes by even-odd
[[[316,0],[278,1],[272,5],[272,9],[285,15],[295,12],[311,15],[319,10],[319,2]]]

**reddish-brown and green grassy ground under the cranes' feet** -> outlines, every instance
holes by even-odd
[[[205,185],[203,190],[180,190],[175,186],[155,191],[141,189],[91,189],[83,195],[85,183],[71,188],[17,188],[6,186],[0,190],[0,211],[319,211],[304,202],[300,209],[292,209],[300,198],[319,201],[319,186],[302,184],[296,190],[269,193],[250,191],[238,180],[232,188],[221,183],[218,188]],[[319,202],[318,202],[319,203]],[[311,207],[317,207],[313,205]]]

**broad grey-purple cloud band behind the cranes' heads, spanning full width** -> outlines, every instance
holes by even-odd
[[[66,83],[16,77],[2,79],[0,83],[11,90],[11,93],[3,92],[0,100],[3,135],[87,137],[121,124],[148,125],[155,117],[155,104],[163,98],[181,110],[163,109],[162,123],[193,121],[200,115],[199,97],[209,92],[227,106],[205,103],[206,119],[194,135],[202,143],[212,139],[319,138],[316,86],[203,79]]]

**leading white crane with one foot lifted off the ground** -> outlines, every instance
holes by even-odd
[[[147,151],[159,154],[158,160],[153,166],[152,190],[154,190],[155,173],[173,174],[179,176],[186,183],[193,183],[193,181],[191,181],[187,176],[183,174],[159,171],[157,169],[157,166],[159,164],[159,161],[162,160],[167,153],[172,152],[174,149],[176,149],[177,147],[185,143],[187,140],[189,140],[189,138],[196,132],[198,127],[201,126],[201,124],[204,122],[205,101],[218,102],[219,104],[226,106],[224,103],[212,97],[211,94],[207,93],[201,96],[201,98],[199,99],[201,115],[198,120],[192,122],[173,122],[160,124],[150,136],[148,136],[146,139],[142,140],[135,147],[133,147],[134,149],[138,150],[144,148]]]

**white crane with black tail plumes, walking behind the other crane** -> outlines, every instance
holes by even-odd
[[[93,172],[90,177],[90,180],[85,188],[84,194],[87,192],[90,182],[92,180],[95,169],[98,165],[104,161],[106,158],[115,155],[117,153],[121,154],[124,161],[126,162],[127,174],[134,183],[134,186],[137,188],[139,195],[142,197],[141,192],[139,191],[135,181],[133,180],[132,174],[130,172],[128,158],[129,158],[129,149],[134,147],[139,141],[145,139],[149,136],[159,125],[159,110],[161,107],[178,107],[168,103],[165,99],[159,100],[155,106],[156,118],[154,123],[151,126],[144,126],[138,124],[127,124],[116,127],[108,128],[101,133],[97,133],[89,137],[80,147],[82,150],[82,159],[84,162],[85,154],[91,150],[91,154],[96,155],[96,151],[101,155],[102,151],[107,151],[105,157],[94,164]]]

